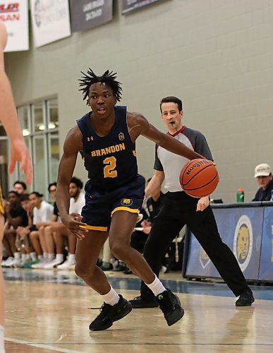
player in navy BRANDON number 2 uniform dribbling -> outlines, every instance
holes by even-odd
[[[77,242],[75,272],[104,300],[90,330],[105,330],[132,309],[96,265],[108,237],[113,256],[147,283],[168,325],[173,325],[183,316],[178,297],[164,288],[142,255],[130,246],[145,189],[144,178],[138,174],[135,140],[142,135],[189,159],[200,155],[158,131],[141,114],[127,112],[126,107],[115,107],[121,100],[121,83],[116,81],[116,73],[106,71],[96,76],[89,69],[83,75],[80,87],[92,112],[79,119],[66,137],[59,164],[56,202],[63,224],[81,240]],[[77,213],[68,214],[68,186],[78,152],[89,178],[82,217]]]

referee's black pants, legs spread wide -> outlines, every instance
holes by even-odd
[[[245,277],[233,252],[223,243],[219,235],[212,208],[208,206],[204,211],[197,212],[197,203],[198,198],[192,198],[183,191],[166,193],[162,209],[152,222],[143,255],[158,276],[166,249],[184,225],[188,225],[226,285],[238,297],[248,287]],[[140,292],[145,300],[154,297],[144,282],[141,282]]]

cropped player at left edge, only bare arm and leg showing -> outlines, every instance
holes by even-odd
[[[0,121],[11,143],[11,159],[8,172],[12,173],[16,162],[20,162],[20,171],[25,172],[25,179],[30,185],[32,182],[32,164],[28,148],[20,130],[16,107],[13,101],[11,85],[4,69],[4,48],[6,46],[7,33],[4,23],[0,21]],[[4,208],[0,189],[0,244],[4,234]],[[2,253],[0,249],[0,258]],[[4,283],[2,270],[0,273],[0,353],[4,352]]]

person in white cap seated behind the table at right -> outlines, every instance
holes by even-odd
[[[253,201],[270,201],[273,190],[272,171],[268,164],[262,163],[255,167],[255,179],[260,186]]]

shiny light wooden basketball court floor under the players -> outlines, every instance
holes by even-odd
[[[108,272],[126,299],[139,294],[134,275]],[[185,316],[168,327],[157,309],[133,309],[105,331],[90,332],[102,301],[73,271],[4,269],[6,352],[273,352],[273,287],[251,286],[255,303],[236,309],[222,283],[161,275]]]

